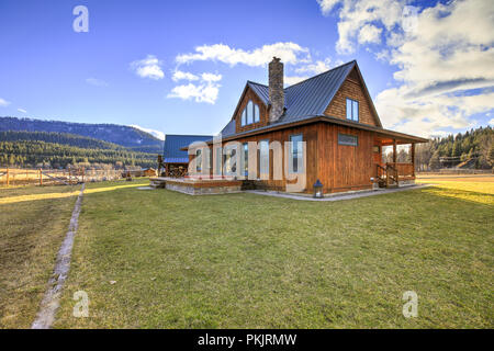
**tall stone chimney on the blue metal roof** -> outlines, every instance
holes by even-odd
[[[283,64],[278,57],[269,63],[269,122],[278,121],[284,112]]]

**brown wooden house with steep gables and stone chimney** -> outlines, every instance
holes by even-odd
[[[243,172],[245,168],[246,177],[252,165],[249,157],[257,152],[257,174],[249,181],[252,188],[287,191],[292,176],[302,177],[303,171],[305,185],[300,191],[306,193],[313,192],[317,180],[324,193],[413,183],[415,144],[427,141],[383,128],[357,61],[284,88],[283,64],[279,58],[269,64],[269,86],[247,81],[221,137],[220,149],[214,149],[213,140],[209,140],[207,151],[210,155],[220,151],[227,166],[226,146],[237,141],[242,146],[242,162],[235,167],[242,167]],[[258,147],[250,148],[249,141],[256,141]],[[285,141],[292,141],[289,149],[282,148],[281,155],[289,167],[277,178],[271,145]],[[296,146],[301,141],[304,152]],[[409,162],[396,162],[398,145],[409,145]],[[385,146],[393,148],[393,162],[383,162]],[[204,147],[201,148],[203,152]],[[195,160],[201,151],[190,154],[190,159]],[[227,167],[216,169],[211,165],[209,169],[211,174],[232,174]],[[238,169],[234,171],[238,174]]]

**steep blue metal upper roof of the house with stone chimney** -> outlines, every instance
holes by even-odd
[[[291,122],[299,122],[313,116],[323,115],[343,82],[357,63],[350,61],[324,73],[314,76],[284,89],[284,114],[269,127]],[[247,82],[254,92],[269,104],[269,88],[265,84]],[[235,134],[235,120],[223,128],[224,137]]]

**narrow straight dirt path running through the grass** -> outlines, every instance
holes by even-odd
[[[48,288],[46,290],[45,296],[41,303],[36,319],[31,326],[32,329],[48,329],[55,320],[55,314],[60,303],[59,297],[61,294],[61,288],[64,287],[64,283],[70,269],[70,257],[72,252],[74,238],[77,233],[85,185],[86,184],[82,184],[79,196],[77,197],[67,235],[60,246],[60,249],[58,250],[55,270],[52,278],[48,280]]]

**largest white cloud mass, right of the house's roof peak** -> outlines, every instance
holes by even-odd
[[[367,25],[382,30],[386,47],[375,57],[397,67],[398,83],[374,100],[385,127],[430,136],[474,126],[473,115],[494,110],[494,8],[482,0],[452,1],[404,18],[404,7],[388,0],[343,3],[337,49],[373,43],[364,39],[372,37]]]

